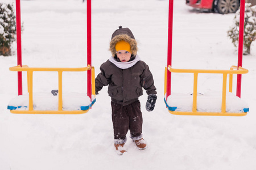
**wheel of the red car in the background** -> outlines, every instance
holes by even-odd
[[[214,10],[220,14],[235,13],[239,6],[239,0],[216,0],[214,2]]]

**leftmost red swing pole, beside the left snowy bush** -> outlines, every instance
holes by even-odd
[[[16,0],[17,65],[22,67],[20,0]],[[22,95],[22,71],[18,71],[18,95]]]

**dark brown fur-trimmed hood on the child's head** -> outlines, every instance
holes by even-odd
[[[129,28],[122,28],[122,26],[119,26],[119,29],[115,30],[112,34],[111,41],[110,41],[110,52],[112,53],[112,56],[115,57],[115,53],[117,50],[115,49],[115,45],[121,43],[120,41],[125,41],[130,45],[130,53],[133,56],[136,56],[138,48],[137,48],[137,41],[135,40],[133,33]],[[118,43],[119,42],[119,43]]]

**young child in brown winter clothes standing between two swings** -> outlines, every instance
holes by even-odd
[[[147,111],[153,111],[156,101],[156,88],[153,76],[145,62],[137,55],[137,41],[129,28],[115,30],[110,41],[112,57],[104,62],[101,73],[95,79],[96,94],[103,86],[108,87],[111,97],[114,146],[119,154],[126,152],[126,134],[139,150],[147,148],[142,138],[142,112],[139,96],[142,87],[148,94]]]

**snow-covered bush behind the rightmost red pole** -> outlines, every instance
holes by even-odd
[[[237,47],[239,36],[240,10],[234,16],[234,23],[228,31],[228,37]],[[251,42],[256,39],[256,6],[245,3],[245,26],[243,33],[243,54],[250,54]]]

